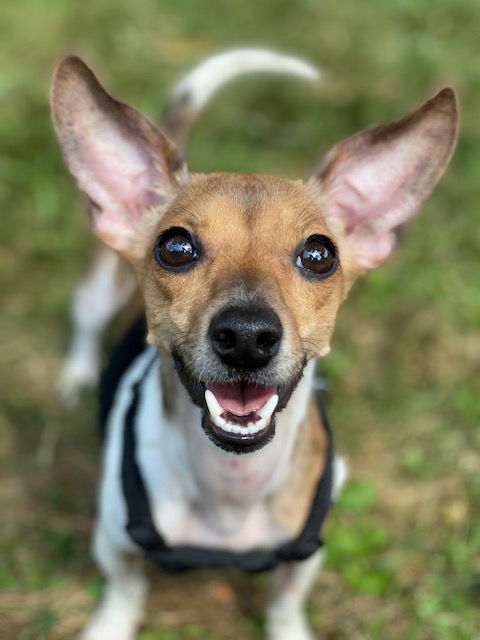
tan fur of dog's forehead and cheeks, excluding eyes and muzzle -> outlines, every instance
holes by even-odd
[[[153,258],[156,238],[172,226],[192,230],[204,247],[202,262],[185,274],[165,272]],[[235,287],[246,285],[277,311],[294,357],[317,355],[329,343],[345,277],[340,266],[331,278],[307,281],[293,268],[295,248],[314,233],[332,235],[301,183],[265,175],[195,176],[149,234],[137,264],[152,342],[169,349],[180,333],[188,352]],[[265,238],[271,238],[268,245]]]

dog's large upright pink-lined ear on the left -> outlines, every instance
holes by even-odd
[[[147,212],[167,204],[186,180],[183,160],[149,120],[109,96],[79,58],[58,65],[51,107],[68,167],[90,200],[95,233],[132,258]]]

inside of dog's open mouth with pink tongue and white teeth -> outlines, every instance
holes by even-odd
[[[263,445],[267,437],[273,436],[270,427],[278,401],[278,387],[275,386],[245,381],[207,384],[206,418],[210,423],[207,426],[227,444],[248,448]]]

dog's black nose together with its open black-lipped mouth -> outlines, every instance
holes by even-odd
[[[250,453],[273,438],[276,412],[288,402],[305,365],[288,383],[268,374],[282,335],[280,319],[271,307],[229,306],[213,317],[208,329],[224,375],[205,382],[195,380],[174,354],[180,379],[203,409],[203,429],[222,449]]]

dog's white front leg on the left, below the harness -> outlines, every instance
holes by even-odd
[[[117,549],[101,527],[95,532],[93,552],[107,585],[103,599],[80,639],[134,640],[148,587],[143,558]]]

